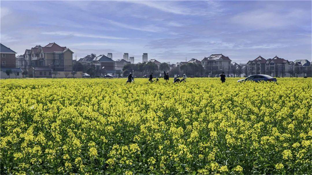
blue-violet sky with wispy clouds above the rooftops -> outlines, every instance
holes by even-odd
[[[171,63],[222,53],[311,60],[311,1],[1,1],[1,43]]]

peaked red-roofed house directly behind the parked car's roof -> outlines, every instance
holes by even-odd
[[[258,56],[256,59],[247,62],[245,74],[247,76],[255,74],[265,74],[265,68],[266,59],[264,59],[262,56]]]

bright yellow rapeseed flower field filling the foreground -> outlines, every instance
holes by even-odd
[[[1,174],[312,174],[311,79],[1,80]]]

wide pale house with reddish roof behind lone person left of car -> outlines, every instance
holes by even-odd
[[[222,72],[229,76],[231,70],[231,59],[222,54],[212,54],[202,59],[202,66],[206,70],[206,76],[215,77]]]

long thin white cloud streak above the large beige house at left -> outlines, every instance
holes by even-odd
[[[123,38],[123,37],[92,35],[92,34],[83,34],[83,33],[78,33],[78,32],[66,32],[66,31],[41,32],[41,34],[44,34],[44,35],[61,35],[61,36],[77,36],[77,37],[87,37],[87,38],[101,38],[101,39],[112,39],[112,40],[129,39],[129,38]]]

